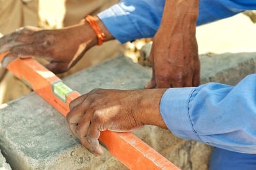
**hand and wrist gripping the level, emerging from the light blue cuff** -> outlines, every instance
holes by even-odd
[[[94,89],[70,103],[67,121],[81,143],[101,155],[100,131],[127,132],[143,125],[167,128],[159,109],[165,90]]]

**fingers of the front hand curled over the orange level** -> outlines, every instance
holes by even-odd
[[[67,121],[70,129],[78,137],[86,148],[94,155],[102,155],[103,148],[99,144],[100,117],[95,109],[88,109],[92,102],[86,100],[88,94],[76,98],[70,103],[70,112],[67,114]]]

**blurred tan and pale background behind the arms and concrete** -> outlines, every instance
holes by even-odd
[[[90,13],[96,15],[118,0],[0,0],[0,33],[8,34],[23,26],[58,29],[77,24]],[[200,26],[196,30],[199,53],[255,52],[256,14],[244,12],[228,19]],[[89,50],[67,73],[66,77],[105,59],[123,54],[135,63],[150,66],[147,58],[151,39],[136,40],[124,45],[117,41]],[[0,104],[31,92],[12,73],[0,68]]]

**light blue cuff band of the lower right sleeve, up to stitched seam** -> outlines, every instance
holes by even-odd
[[[161,99],[160,112],[164,123],[173,134],[183,139],[201,141],[189,115],[188,105],[193,91],[195,88],[167,89]]]

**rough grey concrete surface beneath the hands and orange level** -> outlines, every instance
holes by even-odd
[[[201,57],[202,82],[236,84],[256,71],[256,53]],[[79,93],[93,88],[141,89],[150,68],[119,57],[68,77]],[[13,169],[125,169],[108,151],[94,157],[68,129],[65,118],[35,93],[2,105],[0,148]],[[168,130],[146,126],[136,130],[146,143],[182,169],[207,169],[211,147],[175,137]]]

